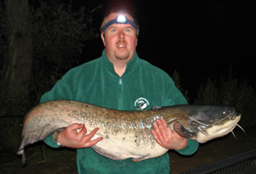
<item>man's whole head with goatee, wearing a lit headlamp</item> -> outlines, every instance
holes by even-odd
[[[125,22],[118,21],[119,16],[125,17]],[[122,60],[127,63],[136,52],[139,25],[137,21],[124,10],[108,13],[101,26],[102,42],[106,48],[108,59]]]

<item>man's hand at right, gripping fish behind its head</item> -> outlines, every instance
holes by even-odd
[[[153,123],[154,130],[152,130],[152,134],[160,146],[166,149],[183,149],[186,147],[187,138],[182,138],[177,132],[172,131],[164,119],[156,120],[156,122]]]

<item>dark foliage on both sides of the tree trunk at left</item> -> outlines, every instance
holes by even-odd
[[[72,3],[61,1],[31,1],[32,75],[29,81],[30,98],[22,104],[1,104],[7,115],[25,115],[38,104],[43,93],[72,67],[79,65],[84,41],[95,38],[92,14],[101,6],[89,10],[73,10]],[[0,69],[7,48],[4,3],[0,3]],[[20,107],[21,106],[21,107]]]

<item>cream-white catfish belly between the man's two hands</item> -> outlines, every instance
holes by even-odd
[[[88,127],[88,130],[95,128],[95,126],[90,127],[89,125],[85,125],[85,127]],[[103,140],[92,146],[92,149],[113,160],[131,158],[133,161],[140,161],[165,154],[168,149],[156,143],[151,132],[146,132],[150,132],[150,130],[116,130],[100,127],[92,139],[103,137]]]

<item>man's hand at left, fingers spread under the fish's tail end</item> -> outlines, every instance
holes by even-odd
[[[81,129],[81,131],[78,133],[77,129]],[[64,131],[60,132],[57,141],[61,143],[61,145],[68,148],[74,148],[74,149],[88,148],[103,139],[101,137],[101,138],[96,138],[95,140],[90,141],[90,139],[93,138],[93,136],[96,134],[98,130],[99,128],[96,128],[92,132],[90,132],[90,134],[85,135],[87,130],[84,124],[75,123],[71,126],[67,126],[64,129]]]

